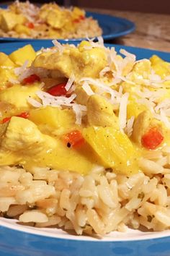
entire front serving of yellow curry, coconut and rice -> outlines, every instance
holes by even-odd
[[[170,226],[170,64],[82,41],[0,53],[0,211],[104,236]]]

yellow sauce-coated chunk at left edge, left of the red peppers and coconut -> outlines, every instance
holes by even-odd
[[[27,98],[36,98],[35,93],[40,90],[38,86],[14,85],[6,90],[0,91],[0,101],[6,101],[17,108],[30,108]]]

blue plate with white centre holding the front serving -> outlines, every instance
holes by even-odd
[[[1,43],[1,50],[6,54],[26,43]],[[33,42],[35,50],[50,47],[52,43]],[[170,53],[152,51],[128,46],[114,46],[133,53],[137,59],[149,58],[157,54],[166,61],[170,61]],[[97,239],[90,236],[75,236],[67,234],[61,229],[35,229],[20,226],[17,221],[0,218],[0,255],[1,256],[169,256],[170,231],[143,232],[128,229],[127,233],[112,232]]]

